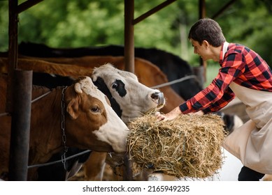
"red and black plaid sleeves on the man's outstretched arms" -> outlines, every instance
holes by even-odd
[[[241,54],[229,54],[212,83],[191,99],[180,104],[180,111],[183,114],[199,110],[208,113],[225,107],[235,97],[229,84],[242,74],[242,66],[243,56]]]

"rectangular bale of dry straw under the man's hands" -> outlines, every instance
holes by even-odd
[[[128,124],[133,171],[162,171],[177,178],[206,178],[222,166],[224,123],[220,116],[180,115],[157,122],[154,114]]]

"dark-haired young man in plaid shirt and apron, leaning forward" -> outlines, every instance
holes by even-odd
[[[189,31],[194,53],[203,61],[220,63],[217,77],[191,99],[168,114],[157,114],[157,120],[172,120],[180,114],[203,111],[205,114],[225,107],[235,95],[246,106],[250,121],[240,134],[231,134],[223,146],[236,155],[243,168],[238,180],[259,180],[272,173],[272,70],[248,47],[225,40],[219,24],[201,19]],[[234,131],[235,132],[235,131]],[[270,139],[269,139],[270,138]],[[250,167],[249,167],[250,166]]]

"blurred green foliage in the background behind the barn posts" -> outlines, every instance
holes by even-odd
[[[24,0],[25,1],[25,0]],[[24,2],[19,0],[19,3]],[[135,0],[138,17],[165,0]],[[228,1],[206,0],[206,16],[213,17]],[[178,0],[134,26],[136,47],[157,47],[195,65],[187,40],[199,18],[199,0]],[[237,0],[215,20],[228,42],[255,50],[272,65],[272,1]],[[50,47],[124,45],[124,0],[45,0],[20,13],[19,42],[40,42]],[[0,0],[0,51],[8,49],[8,1]],[[208,61],[213,64],[213,61]]]

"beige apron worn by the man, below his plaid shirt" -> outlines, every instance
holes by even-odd
[[[272,93],[245,88],[234,82],[229,87],[245,104],[250,120],[229,134],[223,147],[241,159],[244,166],[272,174]]]

